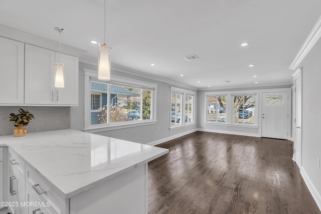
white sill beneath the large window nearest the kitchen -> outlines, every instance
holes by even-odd
[[[102,132],[102,131],[111,131],[116,129],[123,129],[123,128],[131,128],[131,127],[137,127],[137,126],[146,126],[146,125],[153,125],[156,124],[156,120],[152,121],[143,121],[143,122],[136,122],[136,123],[130,123],[130,124],[117,124],[117,125],[105,125],[105,126],[99,126],[99,127],[90,127],[85,128],[83,131],[89,132],[89,133],[96,133],[96,132]]]

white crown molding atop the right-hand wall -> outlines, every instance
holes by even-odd
[[[319,19],[315,23],[314,27],[312,28],[312,31],[310,32],[305,42],[303,43],[301,49],[295,56],[289,69],[293,71],[297,69],[297,67],[301,64],[301,62],[304,60],[306,55],[310,52],[310,50],[313,48],[313,46],[319,40],[320,37],[321,37],[321,17],[319,17]]]

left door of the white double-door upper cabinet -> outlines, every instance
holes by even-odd
[[[25,104],[54,104],[55,52],[25,45]]]

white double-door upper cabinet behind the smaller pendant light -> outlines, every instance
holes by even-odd
[[[65,88],[54,86],[55,62],[59,62],[59,53],[25,45],[25,104],[78,105],[78,57],[60,54]]]

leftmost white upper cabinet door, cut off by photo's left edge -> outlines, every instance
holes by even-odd
[[[24,103],[24,44],[0,37],[0,105]]]

